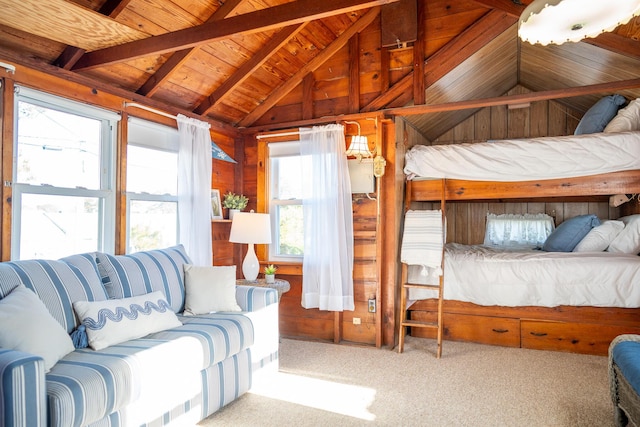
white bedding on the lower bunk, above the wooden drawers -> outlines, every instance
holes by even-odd
[[[409,281],[425,280],[409,266]],[[445,246],[444,299],[507,307],[640,307],[640,256],[610,252],[504,251]],[[412,300],[433,298],[410,289]]]

